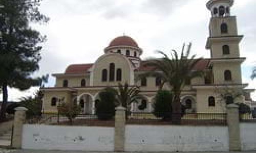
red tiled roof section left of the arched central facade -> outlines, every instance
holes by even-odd
[[[74,64],[67,67],[65,74],[82,74],[87,73],[93,67],[93,64]]]

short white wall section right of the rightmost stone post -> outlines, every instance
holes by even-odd
[[[256,150],[256,123],[240,123],[242,150]]]

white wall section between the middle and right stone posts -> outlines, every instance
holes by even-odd
[[[228,151],[227,126],[125,126],[125,151]]]

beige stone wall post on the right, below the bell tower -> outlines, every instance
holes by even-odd
[[[240,129],[239,129],[239,112],[238,106],[230,104],[227,106],[227,123],[229,132],[229,150],[240,151]]]

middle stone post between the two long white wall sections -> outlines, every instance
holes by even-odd
[[[125,108],[119,106],[115,113],[114,150],[124,151]]]

